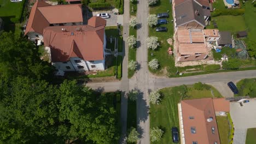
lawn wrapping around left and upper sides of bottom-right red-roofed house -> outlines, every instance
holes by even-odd
[[[212,89],[215,97],[222,97],[215,88],[212,87]],[[172,143],[171,128],[179,128],[178,103],[182,99],[180,92],[183,90],[184,86],[160,89],[160,92],[163,95],[161,104],[150,105],[150,128],[160,127],[164,130],[164,135],[162,136],[161,141],[152,143]],[[189,97],[185,99],[212,97],[210,90],[199,92],[190,86],[188,86],[187,95]]]

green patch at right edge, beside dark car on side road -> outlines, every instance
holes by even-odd
[[[243,79],[236,83],[237,89],[239,91],[235,96],[246,96],[256,97],[256,78],[253,79]]]

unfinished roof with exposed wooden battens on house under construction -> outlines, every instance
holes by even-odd
[[[202,29],[178,29],[178,51],[181,55],[208,53]]]

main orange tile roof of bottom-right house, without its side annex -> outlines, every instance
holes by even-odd
[[[182,100],[181,106],[185,143],[220,143],[212,98]],[[210,117],[213,120],[207,122]],[[195,127],[196,133],[191,133],[191,127]],[[212,133],[212,127],[215,134]]]

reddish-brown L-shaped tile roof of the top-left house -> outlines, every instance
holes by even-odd
[[[34,3],[27,22],[25,35],[28,32],[43,33],[51,23],[83,22],[81,4],[50,5],[37,1]]]

